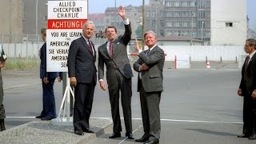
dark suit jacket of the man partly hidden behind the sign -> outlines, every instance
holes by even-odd
[[[46,42],[42,45],[40,49],[40,78],[48,77],[49,79],[57,78],[57,72],[47,72],[46,71]]]

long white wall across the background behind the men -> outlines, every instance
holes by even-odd
[[[38,58],[43,42],[2,43],[9,58]],[[99,45],[95,45],[98,49]],[[175,55],[189,55],[191,61],[238,61],[246,55],[243,46],[160,46],[166,53],[166,61],[174,61]],[[145,47],[147,49],[147,47]],[[128,53],[134,53],[134,45],[128,46]],[[98,56],[97,56],[98,57]],[[137,57],[136,57],[137,58]]]

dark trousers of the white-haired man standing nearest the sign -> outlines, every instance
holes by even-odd
[[[89,128],[90,113],[94,101],[94,82],[77,83],[74,87],[74,130]]]

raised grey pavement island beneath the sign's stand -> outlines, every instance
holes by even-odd
[[[52,124],[51,121],[33,121],[0,132],[0,143],[86,143],[102,134],[110,133],[112,124],[110,119],[90,118],[90,129],[96,133],[85,133],[80,136],[74,134],[73,126],[58,126]]]

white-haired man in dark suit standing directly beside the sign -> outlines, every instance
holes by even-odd
[[[74,86],[74,133],[94,133],[90,130],[89,118],[96,86],[96,52],[90,38],[94,34],[94,22],[83,25],[82,37],[70,45],[67,59],[70,84]]]

